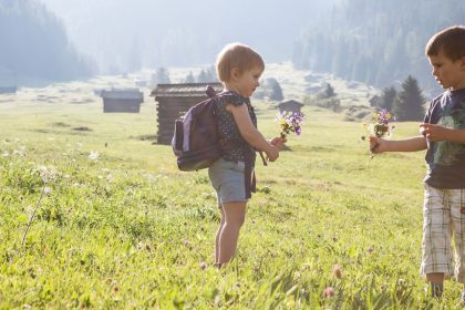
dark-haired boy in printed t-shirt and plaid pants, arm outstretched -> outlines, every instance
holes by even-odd
[[[433,76],[446,91],[430,103],[421,135],[402,141],[370,137],[370,148],[374,153],[427,149],[421,273],[431,283],[432,296],[440,298],[444,278],[455,275],[465,285],[465,27],[436,33],[425,53]]]

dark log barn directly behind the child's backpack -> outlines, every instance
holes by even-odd
[[[205,93],[208,85],[215,92],[223,91],[221,83],[186,83],[186,84],[158,84],[152,91],[157,104],[158,134],[157,143],[170,144],[174,133],[175,120],[180,118],[192,106],[206,100]]]

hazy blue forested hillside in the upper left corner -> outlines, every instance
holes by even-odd
[[[7,83],[34,84],[34,80],[66,81],[93,74],[95,64],[78,53],[64,24],[40,1],[0,1],[0,71],[8,72],[0,78]]]

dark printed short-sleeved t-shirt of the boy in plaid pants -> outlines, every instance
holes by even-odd
[[[465,130],[465,89],[446,91],[435,97],[425,115],[424,123],[447,128]],[[465,144],[428,142],[424,182],[435,188],[465,188]]]

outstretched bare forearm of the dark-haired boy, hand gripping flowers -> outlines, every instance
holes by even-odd
[[[370,151],[373,153],[383,152],[416,152],[427,148],[424,136],[415,136],[407,140],[389,141],[381,137],[370,137]]]

